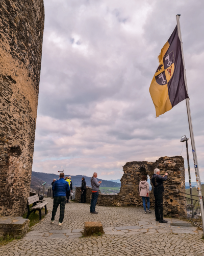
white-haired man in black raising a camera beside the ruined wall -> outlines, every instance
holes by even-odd
[[[155,196],[155,217],[156,221],[159,221],[160,223],[167,223],[168,221],[165,221],[163,219],[163,192],[164,192],[164,186],[163,181],[166,181],[168,178],[168,173],[165,173],[165,175],[162,177],[160,175],[160,169],[156,168],[154,170],[154,174],[151,177],[151,182],[154,186],[154,196]]]

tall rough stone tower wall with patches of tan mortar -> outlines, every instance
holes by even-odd
[[[29,197],[43,30],[43,0],[0,1],[0,216]]]

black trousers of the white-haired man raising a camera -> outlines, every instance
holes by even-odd
[[[157,220],[163,220],[163,186],[154,187],[155,196],[155,217]]]

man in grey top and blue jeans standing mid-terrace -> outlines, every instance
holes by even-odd
[[[101,181],[97,181],[96,178],[97,178],[97,173],[93,173],[93,177],[91,178],[91,192],[92,192],[91,206],[90,206],[91,214],[98,214],[98,212],[95,211],[95,206],[98,199],[98,190],[99,190]]]

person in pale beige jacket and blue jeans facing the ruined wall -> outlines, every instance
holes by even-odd
[[[142,181],[139,184],[139,195],[142,197],[142,203],[144,207],[144,213],[147,214],[150,211],[150,201],[149,201],[149,183],[147,182],[147,177],[145,175],[142,176]],[[147,211],[146,211],[146,200],[147,200]]]

